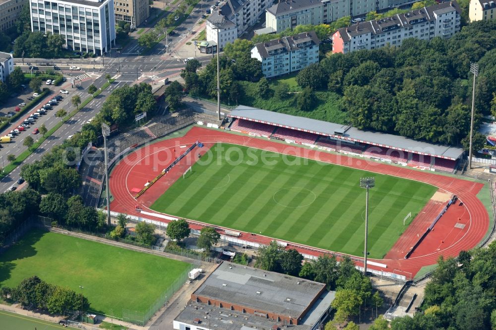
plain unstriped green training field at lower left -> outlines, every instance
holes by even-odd
[[[146,312],[189,268],[172,259],[34,230],[0,255],[0,285],[13,287],[33,275],[76,292],[81,285],[91,310],[122,318],[123,308]]]

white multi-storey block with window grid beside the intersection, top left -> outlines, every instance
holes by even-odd
[[[69,50],[102,55],[115,44],[112,0],[30,0],[31,30],[60,34]]]

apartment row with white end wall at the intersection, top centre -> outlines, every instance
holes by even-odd
[[[219,38],[219,45],[221,49],[224,48],[226,43],[233,42],[236,38],[245,33],[250,26],[255,24],[271,3],[272,0],[221,1],[218,6],[212,8],[212,15],[207,18],[207,41],[217,42],[217,28],[214,23],[223,18],[224,27],[220,30],[223,32],[223,37]],[[216,13],[219,14],[219,10],[221,11],[221,17],[214,16]],[[223,29],[226,29],[226,31],[223,31]],[[224,36],[227,37],[227,41]]]

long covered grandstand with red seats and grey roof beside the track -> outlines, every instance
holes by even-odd
[[[229,117],[233,131],[420,169],[453,172],[463,155],[461,148],[245,106]]]

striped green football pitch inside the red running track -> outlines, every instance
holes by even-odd
[[[360,177],[374,176],[369,251],[371,258],[382,258],[406,229],[405,216],[419,213],[436,191],[434,186],[394,176],[243,146],[222,147],[238,148],[240,154],[228,152],[226,157],[224,153],[219,162],[216,150],[220,145],[214,146],[214,162],[204,155],[201,164],[193,165],[192,172],[178,179],[151,208],[361,256],[366,193],[359,182]],[[274,164],[253,162],[262,155],[272,156]]]

